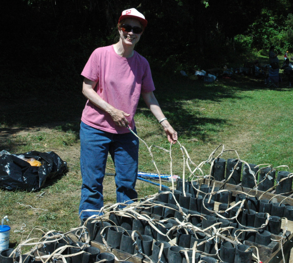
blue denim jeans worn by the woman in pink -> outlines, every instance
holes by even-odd
[[[136,133],[136,129],[134,129]],[[114,134],[81,123],[82,194],[79,213],[104,206],[103,180],[108,153],[115,165],[117,202],[137,199],[135,183],[138,172],[139,140],[132,133]],[[131,203],[133,201],[129,201]],[[98,212],[83,212],[81,219]]]

